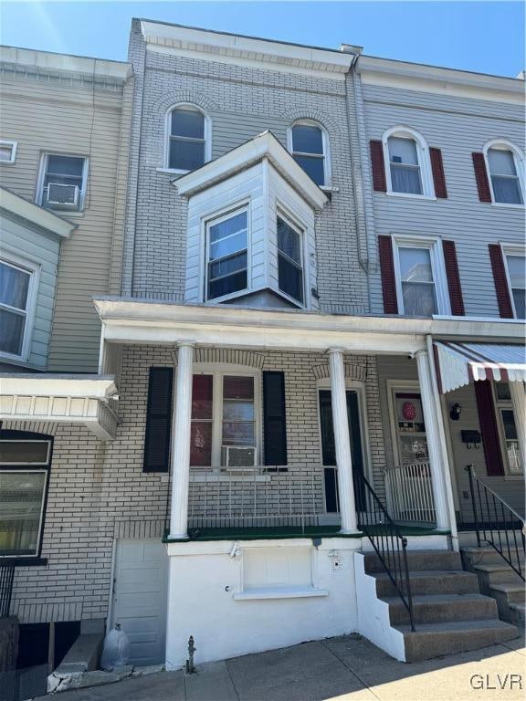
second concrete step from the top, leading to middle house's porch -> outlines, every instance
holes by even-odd
[[[396,596],[396,589],[386,572],[372,572],[376,580],[379,599]],[[423,594],[475,594],[479,593],[479,580],[474,572],[464,570],[421,570],[411,572],[413,596]]]

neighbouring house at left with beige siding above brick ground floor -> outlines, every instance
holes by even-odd
[[[60,645],[89,617],[89,455],[116,424],[92,297],[121,288],[132,66],[0,47],[0,74],[0,565],[20,623]]]

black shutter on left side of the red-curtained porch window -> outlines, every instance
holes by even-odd
[[[173,368],[150,368],[143,472],[169,472]]]

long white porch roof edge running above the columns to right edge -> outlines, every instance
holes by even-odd
[[[510,319],[422,319],[355,316],[226,305],[174,304],[136,298],[94,299],[103,339],[111,343],[176,344],[325,352],[413,354],[426,336],[521,342],[525,325]]]

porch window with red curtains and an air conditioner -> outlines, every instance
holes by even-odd
[[[211,371],[194,375],[191,466],[254,466],[256,377]]]

